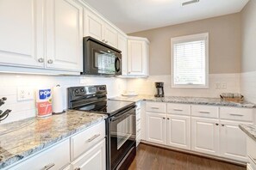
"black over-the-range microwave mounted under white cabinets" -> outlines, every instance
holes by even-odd
[[[121,51],[92,37],[84,37],[84,70],[82,75],[122,75]]]

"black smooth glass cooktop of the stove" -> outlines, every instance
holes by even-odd
[[[100,100],[88,105],[80,106],[76,108],[76,110],[88,111],[88,112],[100,112],[100,113],[106,113],[109,116],[112,116],[134,105],[135,103],[130,101]]]

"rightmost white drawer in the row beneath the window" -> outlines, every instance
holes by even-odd
[[[221,107],[220,118],[253,122],[253,109]]]

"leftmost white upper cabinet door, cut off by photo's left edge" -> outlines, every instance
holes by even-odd
[[[1,0],[0,64],[44,66],[42,14],[40,0]]]

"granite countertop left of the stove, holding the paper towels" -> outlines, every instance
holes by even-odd
[[[68,110],[47,118],[27,118],[0,125],[0,169],[45,149],[92,124],[105,114]]]

